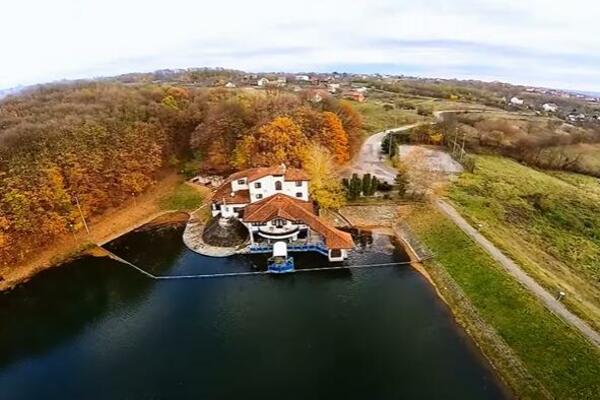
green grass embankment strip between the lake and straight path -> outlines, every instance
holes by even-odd
[[[600,398],[600,352],[596,348],[544,308],[441,214],[421,207],[408,216],[408,222],[436,255],[435,261],[426,262],[425,267],[432,275],[439,268],[448,272],[483,320],[543,387],[560,399]],[[444,286],[442,291],[447,289]],[[479,344],[494,361],[494,350]],[[494,364],[502,369],[501,362]],[[504,376],[516,375],[506,370],[510,367],[504,368]],[[517,382],[512,384],[519,395],[547,397],[522,377],[515,379]]]

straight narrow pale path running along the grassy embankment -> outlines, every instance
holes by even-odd
[[[593,344],[600,347],[600,335],[581,318],[570,312],[561,302],[541,287],[533,278],[527,275],[514,261],[505,256],[496,246],[473,228],[458,211],[443,200],[436,200],[436,207],[450,218],[475,243],[479,244],[494,260],[502,265],[509,274],[514,276],[527,290],[533,293],[544,305],[565,322],[578,329]]]

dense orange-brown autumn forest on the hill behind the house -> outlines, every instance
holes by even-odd
[[[303,93],[95,82],[8,97],[0,102],[0,266],[83,229],[82,216],[119,206],[161,171],[331,169],[357,149],[361,127],[349,103]]]

